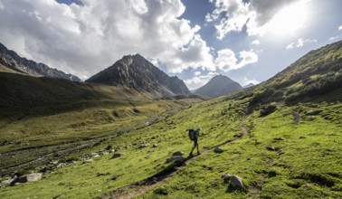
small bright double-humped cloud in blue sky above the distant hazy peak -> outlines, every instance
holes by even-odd
[[[252,50],[249,52],[242,51],[239,53],[240,62],[236,59],[235,53],[230,49],[223,49],[217,52],[214,60],[217,68],[222,71],[232,71],[240,69],[250,63],[258,62],[258,55]]]

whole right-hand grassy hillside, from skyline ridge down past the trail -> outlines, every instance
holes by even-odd
[[[337,58],[315,65],[330,53]],[[70,165],[53,172],[49,169],[58,163],[33,168],[45,172],[41,181],[6,186],[0,197],[341,198],[341,53],[340,43],[328,45],[259,86],[183,106],[64,160],[55,157]],[[281,83],[284,79],[290,82]],[[314,92],[303,91],[309,85]],[[176,151],[188,155],[193,144],[185,129],[197,126],[203,128],[202,155],[184,165],[166,163]],[[214,153],[214,147],[223,153]],[[111,158],[106,148],[122,156]],[[101,156],[87,161],[91,153]],[[244,188],[225,184],[223,174],[240,176]]]

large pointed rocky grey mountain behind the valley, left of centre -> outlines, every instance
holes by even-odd
[[[169,77],[141,55],[124,56],[104,71],[92,76],[87,82],[114,86],[127,86],[147,91],[158,97],[188,95],[191,92],[177,77]]]

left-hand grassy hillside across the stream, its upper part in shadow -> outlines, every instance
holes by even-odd
[[[152,100],[125,88],[11,73],[0,73],[0,90],[0,174],[91,147],[201,101]]]

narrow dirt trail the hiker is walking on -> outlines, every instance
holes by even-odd
[[[248,129],[243,126],[244,125],[244,121],[245,121],[245,119],[247,117],[248,117],[248,115],[245,114],[243,116],[243,118],[242,118],[242,122],[239,124],[239,127],[242,129],[242,133],[243,133],[244,136],[249,134]],[[227,141],[223,142],[222,144],[217,145],[215,147],[223,147],[223,146],[228,145],[228,144],[230,144],[230,143],[232,143],[235,140],[240,139],[240,138],[241,137],[234,137],[233,139],[229,139],[229,140],[227,140]],[[207,154],[209,151],[211,151],[213,149],[214,149],[214,147],[212,147],[212,148],[205,148],[204,151],[201,151],[201,155],[200,156],[203,156],[203,155]],[[115,197],[115,198],[119,198],[119,199],[128,199],[128,198],[136,197],[136,196],[138,196],[140,194],[145,194],[149,190],[151,190],[152,188],[156,187],[157,185],[163,184],[166,180],[168,180],[172,176],[176,175],[178,170],[184,169],[186,165],[188,165],[191,162],[195,161],[195,159],[197,157],[198,156],[194,156],[192,158],[186,157],[185,158],[185,164],[183,164],[182,166],[174,166],[169,171],[166,171],[166,172],[164,172],[162,174],[153,175],[151,177],[148,177],[145,180],[133,183],[131,185],[127,185],[127,186],[121,187],[121,188],[119,188],[117,190],[114,190],[112,192],[109,192],[107,194],[103,194],[101,197],[98,197],[98,198],[107,199],[107,198]],[[131,192],[131,193],[128,193],[128,194],[124,194],[125,192],[127,192],[127,191],[129,191],[131,189],[138,189],[138,190],[136,190],[134,192]],[[119,195],[119,194],[122,194],[122,195],[116,196],[116,195]]]

